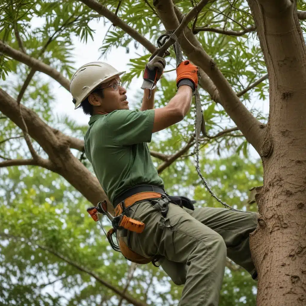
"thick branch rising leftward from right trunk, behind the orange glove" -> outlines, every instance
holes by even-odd
[[[183,14],[173,5],[171,0],[165,0],[159,5],[159,16],[166,30],[172,30],[179,24]],[[186,27],[185,35],[180,37],[183,51],[188,58],[201,69],[200,85],[211,95],[211,98],[220,103],[226,113],[236,123],[239,130],[243,133],[250,144],[260,152],[263,142],[263,126],[252,113],[244,106],[237,97],[232,87],[218,69],[216,63],[203,50],[200,42]]]

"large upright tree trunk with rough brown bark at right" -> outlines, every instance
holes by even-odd
[[[248,0],[267,65],[270,113],[261,147],[259,226],[250,247],[257,305],[306,304],[306,48],[295,2]]]

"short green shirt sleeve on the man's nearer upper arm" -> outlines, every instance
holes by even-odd
[[[107,116],[107,128],[121,145],[151,142],[155,110],[115,110]]]

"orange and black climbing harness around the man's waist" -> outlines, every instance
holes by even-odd
[[[95,222],[99,222],[114,251],[121,252],[126,259],[134,263],[147,264],[152,262],[152,264],[156,266],[156,262],[160,256],[147,258],[133,252],[130,247],[129,232],[142,233],[145,224],[129,217],[129,209],[136,203],[144,200],[151,203],[151,205],[162,215],[159,224],[169,228],[170,230],[172,230],[172,226],[166,224],[169,222],[169,219],[166,218],[169,203],[171,202],[180,207],[186,207],[191,210],[194,210],[193,204],[195,203],[195,201],[192,201],[185,196],[169,196],[163,188],[158,186],[139,185],[125,191],[113,201],[115,217],[110,215],[107,211],[106,200],[99,202],[96,207],[89,207],[87,211]],[[102,217],[104,215],[109,218],[113,226],[107,233],[102,224]],[[114,242],[114,238],[116,239],[117,244]]]

